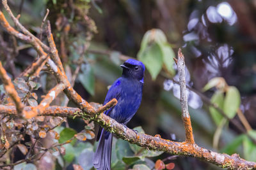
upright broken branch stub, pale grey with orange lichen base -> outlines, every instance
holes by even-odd
[[[176,62],[179,71],[179,81],[180,81],[180,104],[182,111],[182,120],[186,132],[186,142],[193,144],[195,143],[193,138],[193,130],[191,125],[191,120],[188,112],[188,96],[186,93],[186,79],[185,79],[185,60],[184,55],[179,48],[178,61]]]

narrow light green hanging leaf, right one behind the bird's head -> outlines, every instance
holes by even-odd
[[[168,72],[172,75],[175,74],[175,70],[173,68],[173,58],[175,58],[175,53],[173,52],[171,46],[168,43],[163,43],[160,45],[160,48],[163,52],[163,62],[164,66],[168,70]]]

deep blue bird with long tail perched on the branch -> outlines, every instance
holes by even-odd
[[[140,107],[145,66],[138,60],[128,59],[121,67],[123,68],[122,76],[110,87],[104,101],[106,104],[115,98],[118,103],[104,114],[126,125]],[[111,132],[100,127],[97,136],[99,146],[93,157],[93,165],[98,170],[111,168],[112,138]]]

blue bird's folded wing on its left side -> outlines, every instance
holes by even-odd
[[[107,96],[105,98],[104,105],[106,103],[108,103],[109,101],[111,101],[112,99],[114,99],[114,98],[118,101],[118,99],[120,97],[120,93],[121,93],[120,83],[121,83],[121,80],[120,80],[120,78],[118,78],[113,83],[113,85],[111,85],[110,89],[108,90],[108,94],[107,94]],[[113,110],[113,108],[115,108],[115,106],[110,108],[109,110],[106,110],[104,112],[104,114],[109,116],[111,111]],[[99,141],[101,133],[102,133],[102,127],[99,128],[99,132],[98,132],[98,135],[97,135],[97,141]]]

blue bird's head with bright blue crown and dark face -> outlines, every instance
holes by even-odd
[[[141,61],[128,59],[121,65],[123,68],[123,76],[127,78],[134,78],[144,83],[143,76],[145,71],[145,66]]]

